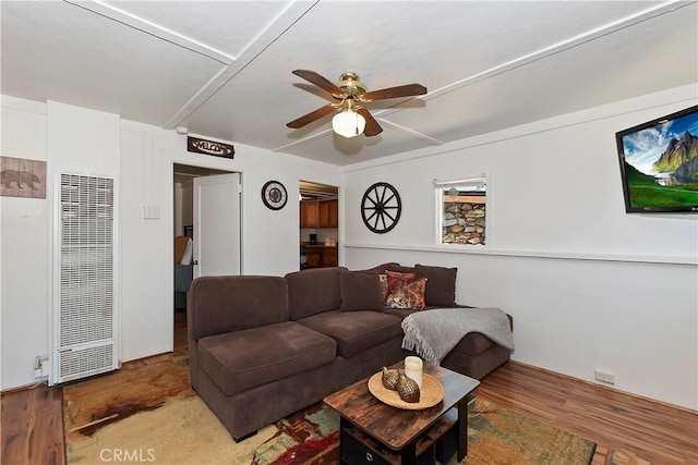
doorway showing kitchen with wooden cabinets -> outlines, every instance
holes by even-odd
[[[339,265],[339,188],[299,182],[300,269]]]

